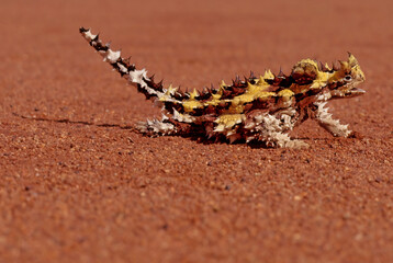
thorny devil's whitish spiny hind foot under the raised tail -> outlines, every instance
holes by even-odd
[[[136,129],[147,136],[173,135],[177,133],[176,126],[169,122],[169,118],[162,115],[161,119],[154,118],[136,124]]]

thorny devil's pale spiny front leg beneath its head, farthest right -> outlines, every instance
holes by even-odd
[[[316,106],[315,118],[321,127],[329,132],[333,136],[336,137],[348,137],[352,132],[348,129],[348,125],[343,125],[338,119],[332,118],[332,114],[328,113],[328,108],[324,107],[326,102],[315,102]]]

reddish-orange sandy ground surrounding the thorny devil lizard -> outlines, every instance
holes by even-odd
[[[392,1],[1,1],[0,262],[393,262]],[[310,149],[148,138],[158,116],[101,62],[101,32],[165,83],[353,53],[363,138]]]

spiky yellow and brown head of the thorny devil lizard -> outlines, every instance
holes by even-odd
[[[339,61],[340,67],[333,70],[328,78],[328,88],[332,99],[353,98],[366,93],[358,85],[364,82],[364,73],[358,60],[349,53],[348,61]]]

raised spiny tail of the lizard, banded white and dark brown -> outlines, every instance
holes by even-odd
[[[130,58],[125,59],[121,56],[120,50],[112,50],[109,43],[102,44],[99,34],[93,35],[90,28],[87,30],[85,27],[80,27],[79,32],[85,39],[89,42],[90,46],[103,57],[103,60],[109,62],[114,70],[116,70],[123,78],[127,79],[130,83],[135,85],[141,93],[145,94],[146,99],[156,101],[157,99],[168,95],[168,90],[164,89],[162,81],[156,83],[154,82],[154,77],[147,77],[146,69],[137,70],[134,64],[130,64]],[[179,100],[176,100],[175,98],[172,98],[172,100],[181,103],[180,101],[183,98],[183,94],[177,92],[177,95],[179,96]]]

